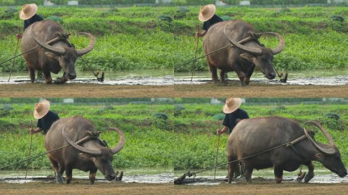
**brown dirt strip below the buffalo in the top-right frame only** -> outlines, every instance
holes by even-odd
[[[346,98],[348,85],[266,85],[250,84],[240,87],[239,83],[175,85],[174,96],[198,97],[242,97],[242,98]]]

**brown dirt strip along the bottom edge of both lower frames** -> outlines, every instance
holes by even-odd
[[[346,194],[348,185],[341,184],[220,184],[188,186],[173,184],[96,183],[75,181],[70,185],[32,182],[0,183],[2,194]]]

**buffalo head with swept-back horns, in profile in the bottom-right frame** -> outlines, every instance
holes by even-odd
[[[339,150],[337,146],[335,145],[329,132],[327,132],[326,129],[321,124],[315,121],[308,121],[305,123],[312,124],[320,128],[323,134],[325,135],[325,137],[329,141],[329,144],[317,143],[310,137],[307,130],[303,128],[307,139],[312,143],[314,148],[318,150],[318,153],[315,154],[316,159],[320,161],[330,171],[336,173],[338,176],[340,177],[346,176],[347,170],[345,169],[343,165]]]

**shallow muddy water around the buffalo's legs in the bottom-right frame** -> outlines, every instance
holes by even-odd
[[[191,171],[199,171],[199,170],[191,170]],[[297,183],[297,174],[300,170],[297,170],[295,172],[285,172],[283,175],[283,182],[295,182]],[[303,172],[308,173],[308,170],[304,169]],[[174,178],[177,179],[178,177],[182,176],[185,173],[185,171],[179,170],[174,172]],[[193,177],[186,177],[186,185],[219,185],[221,183],[225,183],[227,181],[227,170],[217,170],[216,171],[216,177],[214,180],[214,171],[207,171],[201,174],[197,174],[197,176],[194,178],[196,179],[195,182],[193,181]],[[265,169],[265,170],[259,170],[253,171],[252,179],[254,182],[268,182],[273,183],[274,180],[274,172],[273,169]],[[303,182],[304,180],[302,180]],[[239,177],[237,179],[234,179],[233,183],[245,183],[246,180],[244,177]],[[346,177],[339,177],[338,175],[332,173],[329,170],[326,169],[316,169],[314,170],[314,177],[309,181],[309,183],[348,183],[348,176]]]

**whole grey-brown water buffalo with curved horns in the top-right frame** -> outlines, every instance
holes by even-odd
[[[246,86],[250,82],[255,66],[265,74],[266,78],[275,78],[276,74],[272,66],[273,55],[284,49],[284,39],[276,32],[264,33],[278,37],[279,46],[275,49],[263,47],[257,40],[249,41],[244,45],[238,43],[238,41],[254,35],[254,32],[252,25],[242,20],[219,22],[209,28],[203,40],[203,49],[206,54],[231,43],[235,46],[207,56],[214,83],[218,80],[217,69],[220,69],[221,83],[225,82],[225,73],[235,71],[241,85]]]

